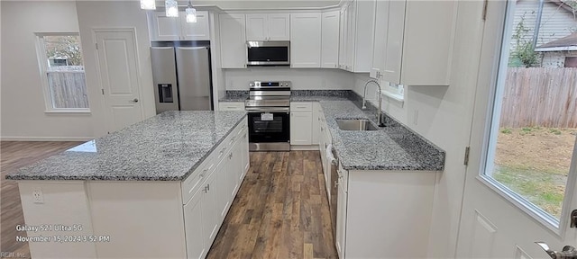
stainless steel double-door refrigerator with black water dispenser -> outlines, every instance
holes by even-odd
[[[207,47],[151,47],[156,113],[213,110]]]

